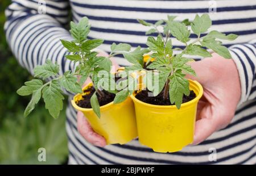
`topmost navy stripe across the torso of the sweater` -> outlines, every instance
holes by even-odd
[[[122,11],[142,11],[142,12],[159,12],[159,13],[208,13],[209,8],[202,9],[157,9],[157,8],[142,8],[142,7],[120,7],[120,6],[104,6],[104,5],[88,5],[85,3],[71,2],[73,6],[85,7],[89,9],[108,9]],[[170,7],[171,8],[171,7]],[[217,11],[242,11],[255,10],[256,6],[238,6],[238,7],[218,7]]]

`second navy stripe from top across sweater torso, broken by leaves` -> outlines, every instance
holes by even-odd
[[[107,16],[92,16],[89,14],[81,14],[79,12],[72,11],[73,14],[76,14],[78,16],[83,17],[87,16],[89,19],[93,20],[100,20],[100,21],[109,21],[109,22],[124,22],[124,23],[138,23],[137,19],[127,19],[127,18],[113,18],[113,17],[107,17]],[[85,11],[86,12],[86,11]],[[73,15],[74,16],[74,15]],[[146,20],[149,23],[155,23],[157,20]],[[213,25],[218,24],[237,24],[237,23],[249,23],[249,22],[256,22],[256,18],[240,18],[240,19],[224,19],[224,20],[213,20]]]

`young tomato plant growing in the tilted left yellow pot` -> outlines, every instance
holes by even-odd
[[[63,109],[63,89],[72,93],[82,93],[81,86],[88,77],[92,79],[93,86],[96,89],[90,98],[90,104],[93,111],[99,118],[100,104],[98,103],[97,96],[104,97],[104,91],[102,91],[103,89],[109,91],[110,93],[116,94],[114,103],[120,103],[127,98],[129,95],[127,88],[117,91],[115,83],[113,88],[112,83],[114,78],[113,74],[110,74],[112,62],[109,58],[122,54],[130,62],[134,62],[134,60],[142,62],[143,54],[147,52],[147,50],[138,47],[134,51],[131,51],[131,46],[129,44],[121,43],[117,45],[113,43],[111,46],[112,52],[110,53],[109,57],[97,56],[98,53],[92,51],[92,49],[100,46],[103,43],[103,40],[88,39],[87,36],[89,32],[90,25],[88,23],[88,18],[84,17],[77,24],[71,22],[70,33],[73,40],[61,40],[61,43],[65,48],[68,49],[69,52],[69,55],[66,55],[65,57],[68,60],[79,63],[75,71],[72,72],[69,70],[60,76],[59,65],[57,65],[57,63],[53,64],[50,60],[47,60],[46,64],[44,65],[35,66],[34,76],[40,79],[32,79],[31,81],[25,82],[24,86],[20,87],[20,89],[17,91],[17,93],[22,96],[32,94],[30,103],[28,103],[28,106],[24,111],[24,116],[29,115],[30,112],[34,110],[35,105],[39,102],[39,100],[43,98],[49,114],[51,114],[53,118],[57,118],[60,111]],[[102,71],[108,73],[108,76],[104,78],[100,77],[99,75]],[[53,79],[46,82],[46,79],[49,77],[53,77]],[[79,81],[77,81],[78,78]],[[41,79],[43,79],[45,83]],[[98,83],[102,79],[104,79],[103,86],[98,86]],[[113,89],[109,89],[111,87]]]

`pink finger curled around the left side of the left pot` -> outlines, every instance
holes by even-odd
[[[106,140],[93,131],[89,122],[81,111],[77,112],[77,130],[86,141],[96,146],[105,146]]]

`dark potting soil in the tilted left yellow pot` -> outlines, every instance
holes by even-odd
[[[87,95],[82,95],[82,100],[79,100],[79,102],[76,102],[77,106],[82,107],[82,108],[92,108],[90,105],[90,98],[92,97],[95,89],[94,87],[89,87],[89,89],[84,90],[84,93],[88,92],[89,94]],[[97,98],[98,98],[98,103],[100,106],[104,106],[105,104],[108,104],[110,102],[113,102],[115,98],[115,94],[109,93],[108,91],[102,90],[104,93],[104,97],[100,97],[98,93],[96,93]]]

